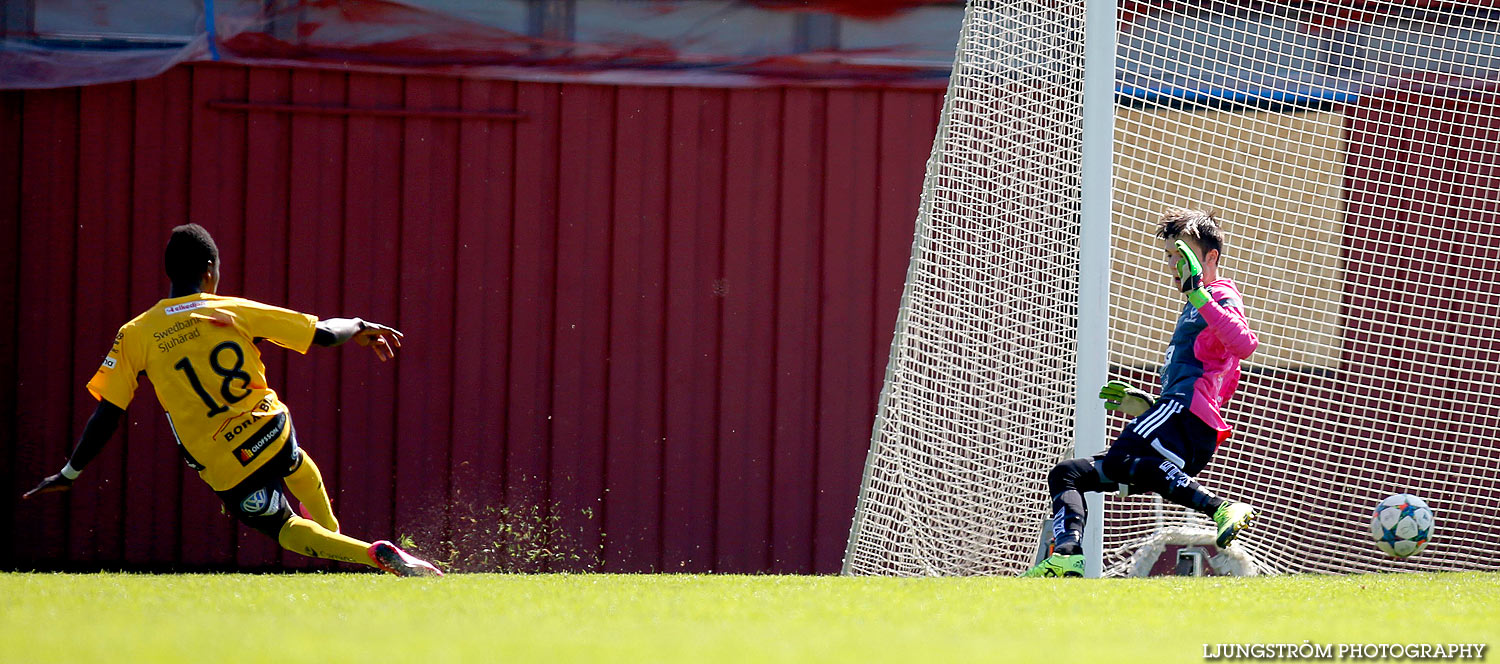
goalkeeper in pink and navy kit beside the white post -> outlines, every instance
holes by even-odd
[[[1155,492],[1214,519],[1220,547],[1256,517],[1250,505],[1218,498],[1192,480],[1230,435],[1220,408],[1234,394],[1239,361],[1258,343],[1234,283],[1218,277],[1222,231],[1206,211],[1168,210],[1156,237],[1173,282],[1188,298],[1162,360],[1161,397],[1120,381],[1100,390],[1104,408],[1134,420],[1104,453],[1065,460],[1047,475],[1053,549],[1023,576],[1083,576],[1084,492]]]

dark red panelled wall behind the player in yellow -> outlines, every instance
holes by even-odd
[[[345,532],[837,571],[940,94],[216,64],[0,93],[0,567],[308,564],[220,514],[148,388],[70,495],[18,501],[194,220],[220,292],[406,334],[264,351]]]

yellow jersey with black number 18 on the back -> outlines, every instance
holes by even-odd
[[[308,352],[316,324],[316,316],[238,297],[162,300],[120,327],[88,393],[126,408],[144,373],[183,459],[213,490],[228,490],[274,457],[291,432],[255,342]]]

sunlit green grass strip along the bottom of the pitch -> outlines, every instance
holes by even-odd
[[[4,663],[1203,663],[1204,643],[1496,645],[1497,637],[1500,574],[1482,573],[0,574]]]

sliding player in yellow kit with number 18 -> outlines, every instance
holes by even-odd
[[[172,229],[166,243],[171,292],[114,337],[88,381],[99,406],[68,465],[26,493],[64,492],[104,448],[130,405],[141,375],[177,436],[188,465],[208,483],[230,514],[290,552],[358,562],[396,576],[442,576],[432,564],[388,541],[374,544],[339,532],[318,466],[297,445],[291,414],[266,381],[260,340],[297,352],[314,343],[354,340],[381,360],[394,357],[400,333],[358,318],[320,321],[308,313],[218,295],[219,249],[202,226]],[[302,502],[292,514],[282,484]]]

